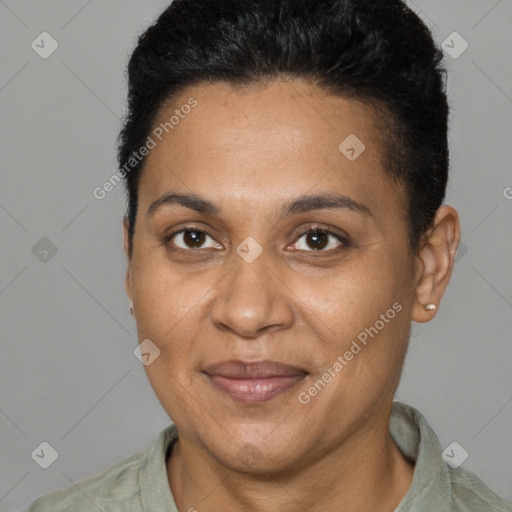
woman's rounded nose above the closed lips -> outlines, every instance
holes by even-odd
[[[252,263],[234,256],[231,271],[219,283],[211,310],[214,325],[254,338],[293,324],[290,288],[271,270],[264,253]]]

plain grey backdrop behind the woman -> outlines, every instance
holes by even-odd
[[[409,3],[439,44],[454,31],[469,43],[446,57],[447,203],[464,245],[438,316],[413,327],[396,398],[512,499],[512,2]],[[0,0],[2,511],[146,449],[169,423],[133,355],[122,188],[92,195],[115,172],[129,53],[167,4]],[[43,31],[59,44],[47,59],[31,48]],[[47,261],[42,237],[57,248]],[[31,458],[42,441],[58,452],[46,470]]]

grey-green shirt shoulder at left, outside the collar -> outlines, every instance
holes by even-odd
[[[127,457],[101,473],[45,494],[23,512],[121,512],[126,510],[123,507],[138,505],[139,468],[144,453]]]

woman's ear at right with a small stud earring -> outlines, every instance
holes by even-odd
[[[441,206],[437,210],[434,225],[425,235],[416,256],[413,321],[428,322],[436,315],[452,275],[459,241],[460,224],[457,211],[451,206]],[[427,304],[434,304],[436,310],[426,311]]]

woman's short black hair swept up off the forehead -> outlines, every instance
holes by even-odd
[[[131,56],[119,164],[126,171],[159,109],[186,87],[311,80],[380,114],[385,168],[405,185],[415,250],[448,179],[442,58],[429,29],[401,0],[174,0]],[[144,162],[123,173],[130,254]]]

